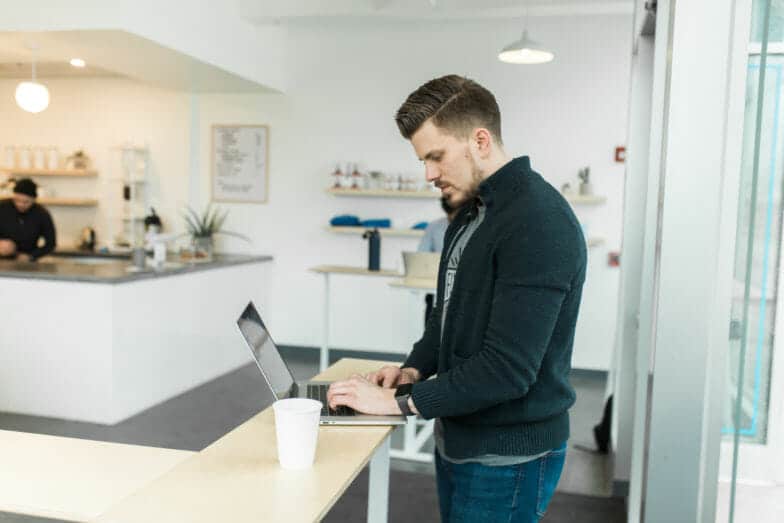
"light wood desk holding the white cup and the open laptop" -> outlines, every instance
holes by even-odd
[[[384,362],[343,359],[316,379],[342,379]],[[312,469],[278,465],[271,408],[183,461],[98,518],[105,523],[291,523],[323,518],[370,461],[368,521],[386,522],[392,427],[322,426]]]

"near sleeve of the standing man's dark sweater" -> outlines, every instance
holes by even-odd
[[[537,236],[536,242],[499,244],[482,347],[467,358],[455,355],[449,371],[414,385],[412,399],[424,418],[471,414],[520,398],[536,381],[576,261],[573,242]]]

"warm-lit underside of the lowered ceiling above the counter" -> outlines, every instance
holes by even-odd
[[[35,46],[38,76],[123,76],[193,92],[258,92],[265,88],[126,31],[0,32],[0,78],[29,78]],[[82,58],[87,67],[71,67]]]

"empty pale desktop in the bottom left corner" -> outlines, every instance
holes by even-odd
[[[193,454],[0,430],[0,511],[90,521]]]

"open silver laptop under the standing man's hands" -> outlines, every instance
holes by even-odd
[[[269,331],[259,316],[259,312],[248,303],[245,310],[237,320],[237,326],[243,338],[250,347],[253,359],[261,371],[261,375],[269,385],[272,395],[276,400],[283,398],[311,398],[318,400],[324,406],[321,409],[323,425],[403,425],[406,417],[402,414],[396,416],[373,416],[360,414],[348,407],[339,407],[336,410],[327,404],[327,389],[330,382],[309,381],[297,383],[291,374],[286,361],[281,356]]]

